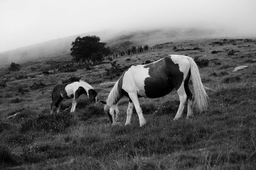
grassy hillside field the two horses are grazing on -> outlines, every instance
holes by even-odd
[[[128,99],[119,102],[119,125],[112,127],[99,103],[83,96],[75,113],[49,115],[51,90],[72,76],[91,83],[106,99],[111,88],[100,83],[115,81],[120,73],[106,74],[111,64],[72,73],[45,75],[63,58],[28,62],[20,71],[1,69],[0,166],[3,169],[254,169],[256,166],[256,40],[201,39],[156,45],[138,55],[117,60],[120,67],[154,61],[169,54],[198,60],[209,94],[209,108],[195,117],[173,121],[179,107],[177,92],[159,99],[141,98],[147,120],[139,127],[134,111],[124,127]],[[253,60],[254,59],[254,60]],[[234,67],[248,68],[232,72]],[[28,75],[33,69],[33,76]],[[117,75],[116,75],[117,74]],[[20,115],[6,117],[20,112]]]

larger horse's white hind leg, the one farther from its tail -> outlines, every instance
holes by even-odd
[[[184,106],[185,106],[186,101],[188,99],[188,96],[187,96],[187,94],[185,92],[185,89],[184,89],[184,82],[181,83],[177,92],[179,94],[180,106],[179,106],[179,110],[177,111],[177,113],[175,115],[175,118],[173,118],[173,120],[178,120],[181,117],[181,115],[184,111]]]

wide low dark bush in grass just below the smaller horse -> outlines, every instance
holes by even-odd
[[[74,116],[70,113],[44,114],[30,118],[21,124],[20,132],[47,131],[63,132],[67,127],[75,125]]]

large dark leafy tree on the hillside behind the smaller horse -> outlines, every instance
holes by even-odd
[[[78,36],[75,41],[72,42],[72,48],[70,49],[72,57],[76,61],[90,60],[93,53],[101,52],[104,55],[110,53],[110,49],[105,47],[106,43],[101,43],[100,38],[97,36],[85,36],[81,38]],[[95,59],[95,57],[93,57]]]

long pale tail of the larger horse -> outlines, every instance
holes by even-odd
[[[190,62],[190,71],[191,71],[191,80],[194,87],[194,95],[195,95],[195,103],[197,108],[200,112],[207,109],[208,103],[207,103],[207,94],[205,92],[205,89],[207,89],[200,78],[200,73],[198,70],[198,67],[196,66],[195,61],[188,57],[188,60]]]

